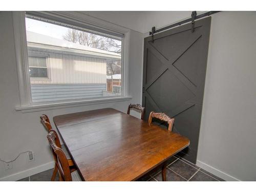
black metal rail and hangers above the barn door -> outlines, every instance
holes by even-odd
[[[193,12],[194,12],[194,11],[193,11]],[[193,14],[193,12],[192,12],[192,14]],[[196,12],[196,11],[195,11],[195,12]],[[202,14],[200,14],[200,15],[197,15],[197,14],[196,14],[195,17],[194,17],[194,22],[193,22],[193,23],[194,23],[194,26],[195,26],[195,20],[196,20],[196,19],[200,19],[200,18],[209,16],[209,15],[212,15],[212,14],[215,14],[215,13],[218,13],[218,12],[220,12],[220,11],[208,11],[208,12],[202,13]],[[152,37],[152,41],[154,41],[154,34],[159,33],[159,32],[162,32],[162,31],[165,31],[165,30],[167,30],[167,29],[171,29],[171,28],[176,27],[176,26],[180,26],[180,25],[182,25],[182,24],[189,23],[189,22],[191,22],[191,21],[192,21],[192,15],[191,15],[190,18],[187,18],[187,19],[185,19],[185,20],[181,20],[181,21],[178,22],[178,23],[175,23],[175,24],[172,24],[172,25],[169,25],[169,26],[166,26],[166,27],[157,29],[157,30],[156,30],[155,27],[153,27],[153,28],[152,28],[152,31],[150,31],[150,36]],[[193,30],[193,28],[192,28],[192,30]]]

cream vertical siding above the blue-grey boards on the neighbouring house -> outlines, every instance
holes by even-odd
[[[78,54],[55,53],[28,48],[29,55],[48,56],[49,80],[31,79],[31,83],[106,83],[106,59]]]

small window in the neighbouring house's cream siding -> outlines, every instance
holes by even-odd
[[[29,56],[29,74],[31,78],[47,78],[47,58]]]

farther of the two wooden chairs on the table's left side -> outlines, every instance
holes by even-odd
[[[52,130],[52,125],[51,125],[51,123],[50,123],[50,120],[49,120],[48,116],[45,115],[45,114],[42,114],[42,115],[40,116],[40,119],[41,119],[41,123],[42,123],[42,124],[45,126],[45,128],[47,129],[48,133],[50,133],[50,131]],[[75,166],[75,164],[74,164],[73,160],[71,159],[71,156],[70,156],[70,154],[69,154],[69,152],[68,152],[66,146],[65,146],[64,144],[63,144],[63,145],[60,144],[58,135],[56,136],[56,145],[57,145],[57,147],[61,148],[62,151],[65,153],[65,155],[66,155],[66,157],[67,157],[67,159],[68,159],[69,166],[70,166],[70,167]],[[53,153],[53,156],[54,156],[54,153]],[[53,170],[53,173],[52,173],[51,181],[54,181],[54,180],[55,180],[55,177],[56,177],[56,174],[57,174],[57,171],[58,171],[57,159],[54,158],[54,160],[55,160],[55,166],[54,166],[54,170]],[[61,178],[60,178],[60,179],[61,179]]]

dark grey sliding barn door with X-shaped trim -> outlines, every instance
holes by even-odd
[[[196,163],[210,33],[210,17],[144,39],[145,119],[151,111],[175,118],[173,132],[190,139],[179,155]]]

